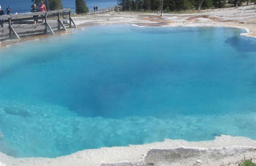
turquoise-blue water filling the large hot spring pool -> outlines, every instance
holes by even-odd
[[[92,26],[1,50],[1,151],[56,157],[256,139],[256,40],[224,27]]]

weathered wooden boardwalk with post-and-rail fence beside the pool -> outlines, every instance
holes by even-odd
[[[34,21],[31,20],[34,19],[44,19],[45,23],[33,24]],[[0,31],[9,31],[9,33],[5,32],[4,34],[0,35],[0,39],[13,37],[20,38],[20,35],[38,33],[46,34],[48,32],[54,34],[54,30],[67,31],[67,27],[71,28],[72,24],[74,25],[74,27],[77,27],[75,22],[71,18],[71,9],[3,15],[0,16],[0,21],[4,23],[4,27],[0,27]]]

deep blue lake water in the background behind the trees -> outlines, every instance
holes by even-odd
[[[100,8],[107,8],[116,6],[116,0],[86,0],[87,7],[89,10],[93,10],[93,6],[98,6]],[[62,0],[62,4],[64,8],[71,8],[72,10],[76,9],[76,0]],[[6,14],[7,6],[11,8],[11,14],[14,14],[15,10],[18,13],[27,13],[31,10],[31,0],[1,0],[0,5]]]

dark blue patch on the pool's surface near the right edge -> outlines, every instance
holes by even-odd
[[[225,42],[238,52],[256,52],[256,39],[252,37],[236,35],[228,38]]]

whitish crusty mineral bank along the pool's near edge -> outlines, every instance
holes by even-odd
[[[166,153],[169,154],[169,157],[163,158]],[[177,166],[181,166],[182,162],[191,165],[198,164],[199,160],[202,162],[200,165],[222,164],[224,166],[237,165],[236,163],[244,158],[243,155],[246,158],[252,158],[253,162],[256,161],[256,140],[228,135],[217,136],[215,140],[196,142],[165,139],[163,142],[143,145],[87,149],[56,158],[14,158],[0,152],[1,162],[6,166],[148,166],[150,165],[148,163],[157,165],[165,160],[168,163],[172,161],[173,165]],[[177,163],[177,161],[179,162]]]

